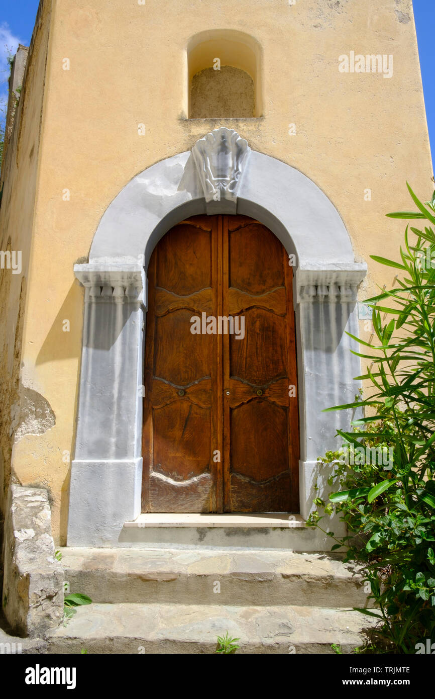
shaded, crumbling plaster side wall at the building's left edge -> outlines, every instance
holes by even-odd
[[[1,167],[3,196],[0,208],[0,250],[21,254],[21,264],[0,270],[0,513],[3,521],[10,480],[20,482],[11,471],[15,439],[35,425],[40,433],[45,425],[54,424],[54,414],[38,397],[38,387],[20,387],[22,336],[27,299],[31,240],[38,187],[38,154],[43,113],[45,68],[50,27],[51,0],[41,0],[31,39],[19,99],[10,99],[15,110],[13,122],[9,113],[9,140]],[[23,48],[22,48],[23,49]],[[20,60],[27,52],[21,50]],[[17,66],[18,67],[18,66]],[[16,81],[15,81],[16,82]],[[15,257],[18,262],[19,257]],[[40,403],[50,419],[38,416]],[[32,416],[34,419],[32,420]],[[45,420],[45,422],[44,422]],[[51,421],[50,421],[51,420]],[[33,459],[28,454],[29,461]],[[38,466],[34,463],[31,479],[38,482]]]

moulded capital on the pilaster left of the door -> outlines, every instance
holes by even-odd
[[[91,301],[140,302],[146,307],[147,284],[140,264],[75,264],[74,274]]]

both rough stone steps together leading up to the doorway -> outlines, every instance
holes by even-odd
[[[214,653],[239,637],[237,653],[350,653],[370,617],[361,571],[334,554],[282,549],[64,548],[78,607],[47,637],[50,653]],[[351,610],[351,611],[348,611]]]

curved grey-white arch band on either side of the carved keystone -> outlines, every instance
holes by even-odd
[[[226,200],[220,204],[216,211],[225,212]],[[146,267],[159,238],[182,219],[205,214],[206,207],[192,152],[161,160],[128,182],[105,211],[89,263],[134,264],[145,251]],[[332,202],[306,175],[269,155],[250,152],[237,213],[265,224],[289,253],[297,254],[300,266],[354,262],[351,240]]]

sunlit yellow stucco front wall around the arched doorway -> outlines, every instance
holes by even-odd
[[[196,34],[218,29],[245,32],[260,46],[261,118],[186,120],[186,48]],[[339,56],[351,51],[392,55],[392,78],[340,73]],[[314,180],[343,218],[357,259],[369,264],[367,291],[389,285],[394,273],[369,260],[397,254],[403,224],[385,212],[410,208],[405,180],[423,199],[432,194],[411,0],[53,3],[22,382],[47,401],[55,424],[22,435],[13,468],[22,482],[49,487],[57,540],[66,533],[63,455],[73,452],[82,341],[73,264],[87,256],[103,212],[135,174],[221,125]],[[19,201],[11,206],[18,216]]]

